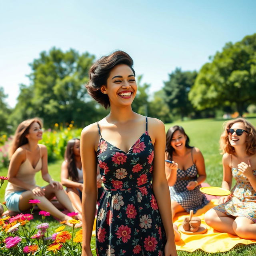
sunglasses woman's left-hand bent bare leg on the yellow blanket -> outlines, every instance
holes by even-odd
[[[226,232],[232,235],[236,235],[233,229],[233,216],[228,216],[224,212],[210,209],[204,214],[204,220],[207,225],[218,230],[219,232]]]

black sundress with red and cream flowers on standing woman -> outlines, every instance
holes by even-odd
[[[166,235],[151,180],[154,146],[146,131],[126,153],[104,140],[97,150],[105,190],[96,224],[98,256],[163,256]]]

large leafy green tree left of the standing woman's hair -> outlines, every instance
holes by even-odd
[[[46,127],[54,123],[84,126],[94,122],[103,110],[86,92],[88,70],[94,56],[52,48],[41,52],[30,67],[30,85],[20,86],[18,103],[11,116],[13,123],[38,116]],[[105,112],[105,111],[103,111]]]

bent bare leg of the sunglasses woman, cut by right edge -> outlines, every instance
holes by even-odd
[[[236,217],[233,229],[237,236],[244,239],[256,240],[256,223],[246,217]]]

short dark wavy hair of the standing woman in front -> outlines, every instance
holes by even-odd
[[[86,85],[88,94],[104,108],[110,106],[107,94],[103,94],[100,90],[102,85],[106,85],[109,73],[118,64],[126,64],[129,66],[135,76],[135,71],[132,68],[133,60],[129,54],[123,51],[115,51],[108,56],[102,56],[97,60],[89,70],[89,82]]]

